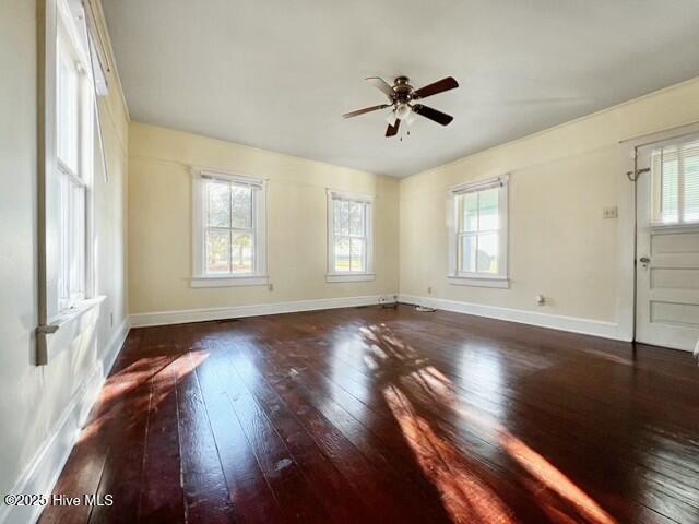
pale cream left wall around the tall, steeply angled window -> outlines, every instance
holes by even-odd
[[[12,489],[56,429],[86,374],[127,320],[128,116],[118,82],[102,102],[110,180],[95,180],[97,344],[34,366],[37,325],[37,26],[35,1],[0,2],[0,495]],[[114,315],[114,322],[110,320]],[[1,508],[0,508],[1,510]],[[0,511],[1,513],[1,511]]]

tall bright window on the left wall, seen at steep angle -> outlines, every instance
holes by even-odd
[[[87,199],[94,163],[91,67],[70,9],[59,2],[57,11],[55,112],[47,119],[55,122],[46,196],[49,230],[56,231],[50,240],[54,255],[47,260],[56,289],[56,300],[49,306],[51,315],[75,307],[87,296]]]

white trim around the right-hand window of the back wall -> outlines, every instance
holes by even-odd
[[[376,278],[374,273],[374,202],[375,196],[371,194],[353,193],[348,191],[327,190],[328,204],[328,272],[325,273],[325,282],[370,282]],[[335,266],[335,242],[334,242],[334,212],[332,201],[334,199],[353,200],[355,202],[365,202],[367,205],[366,228],[367,228],[367,263],[366,271],[334,271]]]

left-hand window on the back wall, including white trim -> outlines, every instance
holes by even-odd
[[[265,183],[196,170],[193,287],[266,285]]]

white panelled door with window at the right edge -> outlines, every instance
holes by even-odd
[[[636,340],[699,341],[699,136],[639,150]]]

